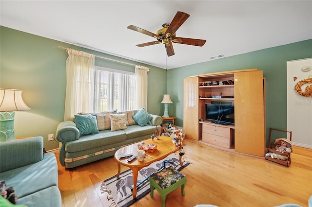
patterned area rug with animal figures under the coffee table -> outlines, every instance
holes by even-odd
[[[185,159],[182,159],[183,167],[180,166],[179,157],[175,154],[168,155],[163,160],[172,160],[173,165],[166,163],[166,167],[174,166],[176,170],[180,171],[190,163]],[[132,171],[129,169],[120,173],[119,178],[113,176],[104,180],[101,184],[101,192],[107,195],[110,207],[128,207],[131,204],[135,203],[137,200],[142,198],[144,195],[151,191],[148,177],[157,172],[159,168],[163,165],[163,160],[152,163],[151,165],[143,168],[138,172],[137,184],[141,183],[137,187],[137,198],[133,199],[132,197],[132,188],[133,188],[133,177]]]

